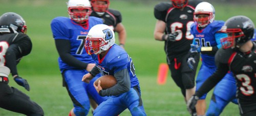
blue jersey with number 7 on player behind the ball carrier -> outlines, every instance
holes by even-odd
[[[84,39],[90,30],[96,24],[102,24],[102,20],[96,17],[89,18],[89,28],[72,23],[72,20],[67,17],[56,17],[52,20],[52,32],[54,39],[65,39],[70,41],[70,54],[76,57],[79,61],[85,63],[95,63],[84,50]],[[58,58],[59,68],[61,72],[65,69],[75,69]]]

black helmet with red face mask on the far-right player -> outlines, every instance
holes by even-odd
[[[253,38],[254,24],[246,16],[233,16],[227,19],[221,28],[221,32],[228,34],[227,38],[221,39],[224,49],[232,46],[239,48]]]

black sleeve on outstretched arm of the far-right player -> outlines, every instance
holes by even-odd
[[[221,81],[221,79],[227,74],[229,71],[227,64],[221,64],[219,63],[217,70],[214,74],[212,74],[199,88],[199,90],[196,92],[196,95],[198,97],[203,96],[205,93],[208,93],[214,86]]]

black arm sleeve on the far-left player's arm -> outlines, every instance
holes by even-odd
[[[20,54],[18,45],[12,44],[6,51],[6,66],[11,70],[12,76],[18,75],[16,57]]]

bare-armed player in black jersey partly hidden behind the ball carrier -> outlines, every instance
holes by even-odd
[[[114,32],[118,33],[119,46],[124,48],[126,31],[123,26],[121,13],[114,9],[109,9],[109,0],[91,0],[93,12],[90,16],[95,16],[103,20],[103,24],[109,25]]]

